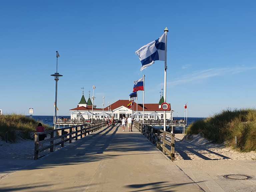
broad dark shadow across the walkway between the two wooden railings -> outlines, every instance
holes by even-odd
[[[12,170],[6,168],[3,169],[2,172],[53,168],[60,165],[83,164],[100,161],[102,159],[113,159],[117,156],[123,155],[116,155],[114,154],[115,152],[136,151],[136,153],[125,154],[136,155],[138,154],[138,151],[145,154],[147,151],[155,150],[147,139],[137,130],[134,129],[134,132],[131,134],[116,134],[118,128],[121,128],[120,124],[115,127],[106,127],[98,132],[87,135],[82,139],[78,139],[77,141],[72,142],[60,150],[54,151],[39,160],[36,160],[35,163],[31,165]],[[115,142],[112,142],[114,137]],[[141,145],[142,142],[144,142],[143,146]],[[107,152],[107,154],[104,152]],[[111,154],[111,152],[113,152],[113,154]]]

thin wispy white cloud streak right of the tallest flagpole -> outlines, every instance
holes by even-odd
[[[225,74],[237,74],[248,70],[256,69],[256,67],[233,67],[233,68],[211,68],[201,71],[194,71],[180,78],[175,79],[172,82],[168,82],[168,86],[180,85],[192,81],[208,79],[211,77],[223,76]]]

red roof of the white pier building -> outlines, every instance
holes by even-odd
[[[111,104],[111,110],[115,110],[116,108],[121,106],[127,107],[127,105],[130,102],[131,101],[129,100],[118,100],[115,103]],[[134,111],[137,111],[136,107],[137,107],[136,102],[134,102]],[[70,111],[88,111],[88,110],[92,110],[92,106],[87,106],[87,107],[81,106],[74,109],[70,109]],[[102,111],[102,108],[93,108],[93,111]],[[104,108],[104,111],[108,111],[108,106]],[[143,104],[138,103],[138,111],[143,111]],[[158,103],[148,103],[148,104],[145,103],[144,111],[163,111],[163,110],[161,108],[159,109]],[[169,109],[168,111],[171,111],[171,110]]]

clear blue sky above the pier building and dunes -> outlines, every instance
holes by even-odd
[[[68,115],[81,87],[95,103],[128,99],[146,75],[145,102],[158,103],[164,62],[140,71],[135,51],[167,26],[167,101],[183,115],[255,107],[255,1],[2,1],[0,109],[52,115],[58,50],[58,108]],[[142,102],[142,92],[139,94]]]

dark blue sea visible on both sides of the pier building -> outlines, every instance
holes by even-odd
[[[28,116],[29,117],[29,116]],[[59,118],[61,118],[62,116],[59,116]],[[36,121],[40,121],[44,124],[47,124],[49,126],[53,126],[53,115],[50,115],[50,116],[44,116],[44,115],[33,115],[32,116],[33,119],[35,119]],[[63,118],[68,118],[70,119],[70,116],[63,116]],[[183,119],[184,120],[184,117],[173,117],[173,120],[181,120]],[[205,119],[203,117],[188,117],[188,123],[187,125],[190,125],[191,123],[194,123],[198,120],[202,120],[202,119]],[[179,133],[179,132],[182,132],[182,127],[176,127],[175,128],[175,132],[176,133]]]

